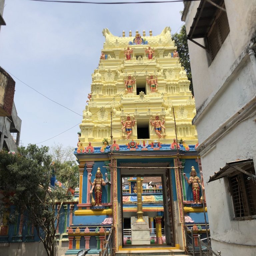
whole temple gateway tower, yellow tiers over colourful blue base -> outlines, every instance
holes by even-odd
[[[99,254],[110,232],[117,254],[154,246],[184,254],[208,218],[195,102],[171,29],[102,34],[74,152],[80,180],[60,236],[65,254]]]

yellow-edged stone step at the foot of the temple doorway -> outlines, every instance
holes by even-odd
[[[147,250],[145,249],[121,249],[116,252],[117,256],[165,256],[165,255],[179,255],[184,256],[185,252],[180,249],[161,249],[161,248],[154,248]]]

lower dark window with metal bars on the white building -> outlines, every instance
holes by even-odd
[[[255,175],[253,165],[246,170]],[[237,172],[228,177],[235,218],[256,215],[256,184],[248,175]]]

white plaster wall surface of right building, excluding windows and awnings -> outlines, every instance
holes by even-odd
[[[187,33],[198,5],[199,1],[191,2],[185,16]],[[226,178],[208,183],[210,176],[237,159],[252,158],[256,169],[255,112],[227,132],[222,129],[244,105],[256,105],[256,72],[248,55],[256,35],[256,0],[225,0],[225,6],[230,33],[210,66],[206,51],[188,41],[197,109],[194,124],[201,146],[217,132],[223,135],[207,150],[201,148],[212,248],[226,256],[255,256],[256,220],[233,220]],[[204,45],[203,39],[195,41]]]

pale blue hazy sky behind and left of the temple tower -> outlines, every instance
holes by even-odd
[[[111,1],[111,0],[107,0]],[[120,0],[121,1],[121,0]],[[96,1],[95,1],[96,2]],[[82,115],[105,38],[182,25],[183,3],[93,5],[6,0],[0,32],[0,66],[47,97]],[[179,32],[179,31],[178,31]],[[18,79],[14,101],[22,119],[21,141],[40,143],[79,124],[82,117],[51,102]],[[121,127],[121,126],[120,126]],[[76,125],[38,145],[76,146]]]

